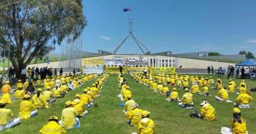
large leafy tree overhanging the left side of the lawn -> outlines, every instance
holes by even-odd
[[[77,39],[87,25],[81,0],[8,0],[0,4],[5,5],[0,6],[0,47],[10,46],[10,61],[18,78],[33,58],[43,58],[70,35]]]

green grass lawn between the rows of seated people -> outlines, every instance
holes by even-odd
[[[201,76],[201,75],[200,75]],[[203,75],[207,76],[207,75]],[[217,79],[216,75],[212,75],[214,80]],[[218,118],[215,122],[207,122],[198,118],[190,118],[188,113],[192,109],[182,109],[178,107],[178,103],[171,103],[165,100],[165,97],[159,93],[155,93],[150,88],[139,84],[135,79],[129,78],[129,75],[125,75],[127,83],[129,84],[131,91],[133,92],[133,99],[139,104],[140,109],[149,110],[151,112],[150,118],[154,120],[156,124],[156,133],[169,134],[169,133],[219,133],[221,127],[230,127],[230,119],[232,118],[233,103],[223,103],[215,101],[214,96],[217,91],[209,89],[211,97],[205,97],[202,95],[194,94],[194,105],[195,109],[200,111],[200,103],[202,99],[207,99],[209,103],[216,110],[216,117]],[[225,77],[222,79],[224,86],[228,84],[228,79]],[[240,84],[241,79],[234,79],[236,84]],[[11,129],[6,129],[1,133],[38,133],[39,129],[43,125],[47,124],[48,119],[52,115],[60,118],[62,110],[64,109],[64,103],[68,100],[74,100],[76,93],[82,93],[83,88],[91,86],[95,80],[91,80],[80,88],[77,88],[73,92],[66,94],[62,99],[57,99],[53,104],[50,104],[50,109],[39,110],[37,116],[30,120],[23,121],[22,124],[15,126]],[[256,81],[246,80],[248,88],[254,88]],[[171,87],[169,86],[171,89]],[[238,89],[236,89],[238,91]],[[177,90],[181,97],[184,93],[183,90]],[[79,129],[67,129],[67,133],[114,133],[114,134],[129,134],[137,131],[136,127],[130,127],[126,124],[127,118],[122,113],[123,107],[119,106],[121,101],[117,95],[119,94],[119,88],[117,86],[117,75],[110,75],[110,78],[106,80],[102,92],[102,96],[96,98],[93,102],[99,107],[93,107],[88,109],[89,114],[81,118],[81,126]],[[253,99],[256,98],[255,92],[251,93]],[[230,93],[230,100],[236,99],[236,94]],[[8,108],[18,114],[19,109],[18,101],[14,104],[9,105]],[[256,133],[255,121],[256,121],[256,110],[255,101],[251,103],[253,108],[241,109],[242,117],[247,120],[247,130],[249,133]]]

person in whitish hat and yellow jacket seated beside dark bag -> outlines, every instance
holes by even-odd
[[[201,112],[198,114],[199,118],[202,120],[217,120],[215,118],[215,109],[208,103],[205,99],[200,104]]]

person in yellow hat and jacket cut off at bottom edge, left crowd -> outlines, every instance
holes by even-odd
[[[57,116],[51,116],[49,119],[48,124],[43,126],[42,129],[39,130],[40,134],[43,133],[59,133],[59,134],[65,134],[66,131],[58,124],[58,117]]]

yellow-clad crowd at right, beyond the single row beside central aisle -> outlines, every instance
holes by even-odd
[[[137,82],[148,86],[154,92],[161,93],[161,95],[163,95],[167,101],[179,102],[179,107],[184,109],[194,108],[194,93],[198,95],[205,95],[205,97],[211,96],[209,93],[210,88],[218,90],[217,95],[215,96],[217,101],[232,103],[228,94],[236,93],[235,88],[239,88],[240,91],[236,93],[238,96],[235,100],[236,103],[234,103],[234,118],[231,121],[232,126],[227,133],[247,133],[246,123],[245,120],[240,117],[241,113],[239,108],[250,108],[251,106],[249,103],[253,101],[253,98],[247,91],[245,80],[242,80],[238,87],[236,82],[230,79],[227,88],[224,88],[221,79],[218,78],[215,81],[211,76],[209,76],[209,78],[204,78],[203,76],[178,74],[148,74],[145,76],[141,75],[140,73],[131,73],[131,78],[135,78]],[[211,85],[215,86],[211,87]],[[171,86],[173,89],[169,90],[168,86]],[[181,98],[179,97],[179,92],[177,92],[177,89],[184,90],[184,94]],[[190,117],[196,117],[202,120],[217,120],[215,117],[215,108],[213,108],[213,106],[211,106],[206,99],[200,103],[200,106],[202,107],[200,113],[197,113],[195,110],[193,110],[190,112]]]

